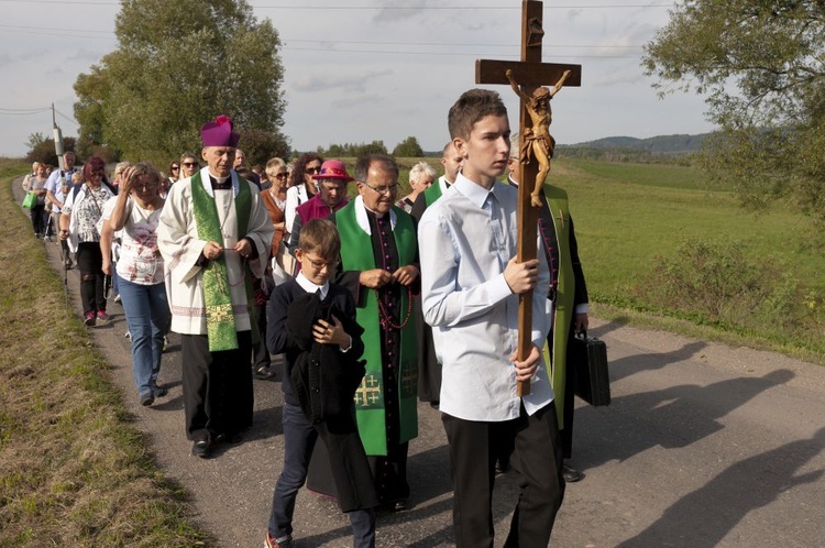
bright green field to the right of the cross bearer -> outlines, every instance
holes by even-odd
[[[730,193],[702,188],[690,167],[563,162],[551,172],[568,191],[590,285],[622,296],[650,271],[653,255],[670,255],[683,238],[740,241],[756,256],[792,265],[825,289],[821,255],[807,249],[810,221],[780,208],[752,213]]]

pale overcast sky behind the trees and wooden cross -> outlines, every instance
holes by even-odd
[[[250,3],[255,17],[271,19],[280,34],[283,131],[300,151],[373,140],[392,151],[408,135],[427,151],[440,150],[449,140],[448,109],[476,87],[475,59],[519,55],[519,0]],[[671,2],[579,3],[544,1],[543,61],[583,66],[582,87],[564,88],[553,99],[550,131],[559,143],[712,130],[701,97],[660,100],[639,66],[641,45],[668,22]],[[21,156],[31,133],[51,136],[52,103],[63,134],[77,135],[73,85],[117,47],[120,3],[0,0],[0,155]],[[502,94],[516,125],[513,91],[481,87]]]

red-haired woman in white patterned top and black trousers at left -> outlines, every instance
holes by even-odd
[[[108,324],[103,296],[103,255],[97,223],[106,200],[114,196],[106,180],[106,164],[90,157],[84,165],[84,183],[69,190],[61,209],[61,240],[68,240],[80,271],[80,299],[87,326]]]

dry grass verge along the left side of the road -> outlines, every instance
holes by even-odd
[[[12,197],[10,171],[0,161],[0,547],[207,546],[109,365],[67,315],[63,283]]]

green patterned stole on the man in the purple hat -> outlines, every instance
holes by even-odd
[[[244,179],[239,178],[239,193],[235,197],[235,217],[238,219],[238,234],[246,234],[252,209],[252,193]],[[198,229],[198,238],[206,241],[221,242],[223,234],[218,220],[218,206],[215,198],[204,188],[200,172],[191,178],[193,212],[195,215],[195,227]],[[239,238],[240,240],[240,238]],[[244,265],[249,271],[249,265]],[[252,277],[250,272],[244,273],[246,282],[246,303],[252,303]],[[207,315],[207,338],[209,351],[234,350],[238,348],[238,333],[235,330],[235,316],[232,310],[232,297],[229,286],[229,271],[227,270],[226,255],[209,261],[204,267],[201,276],[204,284],[204,305]],[[255,338],[255,321],[250,309],[250,324],[252,324],[253,339]]]

